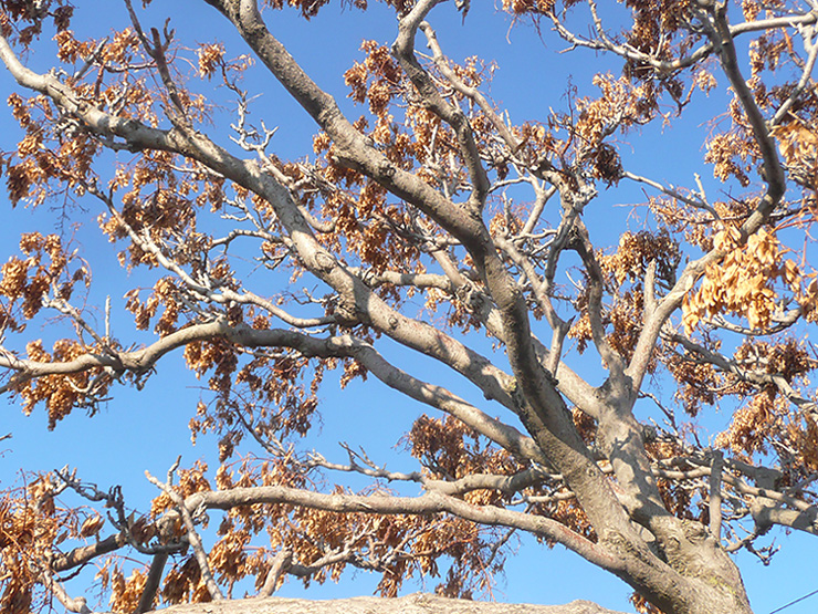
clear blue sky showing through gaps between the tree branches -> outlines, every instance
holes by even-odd
[[[80,34],[98,37],[109,28],[126,23],[125,9],[118,1],[77,4],[74,25]],[[154,4],[145,18],[146,25],[160,25],[164,18],[159,13],[170,6],[171,25],[183,44],[192,46],[198,42],[221,40],[227,45],[228,55],[247,52],[227,22],[204,2],[175,0],[155,1]],[[576,85],[580,93],[590,92],[589,81],[594,73],[606,70],[616,73],[618,70],[614,59],[600,58],[591,52],[555,55],[552,52],[565,45],[549,32],[543,32],[541,37],[531,27],[512,30],[507,17],[476,7],[476,2],[463,24],[452,3],[449,4],[437,9],[430,19],[444,52],[454,60],[476,54],[496,61],[499,69],[490,93],[502,107],[508,108],[515,121],[544,119],[549,107],[560,108],[565,105],[564,93],[568,83]],[[88,10],[86,6],[93,6],[93,9]],[[343,73],[354,60],[360,59],[357,50],[363,39],[391,42],[396,27],[390,13],[379,4],[374,4],[367,13],[331,7],[310,23],[296,19],[291,11],[270,12],[268,20],[273,33],[285,43],[306,72],[325,90],[334,93],[345,111],[357,116],[359,112],[344,100],[346,89]],[[422,50],[421,44],[418,48]],[[34,52],[25,61],[32,67],[42,69],[50,65],[51,56],[46,52]],[[0,93],[6,97],[14,84],[7,73],[0,74]],[[268,125],[279,126],[274,152],[283,158],[311,154],[314,127],[305,113],[272,76],[261,71],[255,74],[259,79],[247,83],[251,95],[261,94],[252,108],[256,118],[263,117]],[[720,83],[720,89],[710,100],[702,97],[699,101],[702,103],[701,110],[678,125],[664,129],[651,126],[629,135],[622,146],[626,160],[632,164],[629,169],[665,183],[686,185],[692,183],[692,174],[698,171],[707,181],[711,174],[700,160],[707,133],[705,123],[723,108],[720,105],[724,100],[724,83]],[[228,93],[222,91],[221,94],[226,95],[223,104],[229,110]],[[218,134],[221,128],[217,126],[213,129]],[[15,134],[9,115],[1,115],[0,148],[13,148]],[[670,148],[668,144],[671,144]],[[671,155],[672,160],[669,159]],[[713,190],[719,189],[712,181],[707,185]],[[618,232],[629,223],[637,223],[628,221],[629,205],[642,198],[641,189],[627,187],[601,196],[587,214],[592,238],[599,244],[615,244]],[[19,232],[55,228],[55,215],[48,209],[48,205],[35,211],[22,207],[12,210],[3,199],[2,206],[0,244],[4,247],[4,253],[0,253],[0,260],[17,251]],[[94,275],[91,302],[97,305],[97,313],[105,295],[111,295],[116,313],[124,305],[123,293],[138,279],[118,269],[115,257],[117,248],[101,238],[96,230],[94,220],[99,212],[96,205],[88,201],[86,207],[85,211],[72,214],[72,221],[76,226],[63,229],[67,228],[76,244],[81,246],[81,254],[91,261]],[[144,339],[133,331],[127,314],[115,316],[113,324],[115,336],[127,343]],[[53,322],[38,322],[27,331],[25,337],[56,335],[56,326]],[[420,377],[437,376],[433,366],[422,362],[412,364],[412,372]],[[591,378],[599,375],[594,365],[584,367],[584,373]],[[457,391],[460,385],[457,381],[443,383],[461,392]],[[183,455],[185,466],[198,458],[213,457],[212,440],[204,438],[195,448],[190,446],[187,423],[200,395],[199,385],[182,368],[181,356],[177,354],[164,358],[158,373],[144,391],[115,389],[113,400],[98,415],[88,418],[82,412],[75,412],[60,423],[53,433],[46,431],[43,412],[27,418],[21,415],[19,407],[8,405],[4,407],[6,420],[0,435],[10,431],[13,438],[0,443],[7,448],[0,458],[0,486],[11,486],[20,468],[50,470],[69,464],[77,468],[80,477],[101,487],[123,485],[127,500],[145,510],[149,499],[155,496],[155,489],[144,478],[146,469],[164,476],[179,454]],[[412,468],[411,459],[397,459],[394,446],[419,414],[418,406],[411,400],[396,398],[371,379],[366,384],[355,383],[343,394],[336,391],[337,386],[332,381],[324,386],[323,428],[308,445],[319,447],[331,459],[336,455],[335,458],[342,460],[337,441],[363,443],[374,459],[388,460],[390,468]],[[472,395],[468,391],[462,394]],[[722,415],[721,419],[724,417]],[[260,452],[258,449],[252,451]],[[214,459],[211,466],[216,466]],[[767,569],[763,569],[752,556],[740,555],[747,591],[758,614],[770,612],[818,587],[810,574],[805,573],[805,568],[810,569],[815,560],[814,541],[804,535],[782,534],[777,543],[783,547],[782,552]],[[518,555],[510,559],[506,572],[495,591],[495,596],[501,601],[548,604],[587,599],[610,608],[632,611],[627,602],[630,594],[627,585],[559,548],[548,551],[537,544],[524,543]],[[314,587],[307,594],[321,597],[368,594],[376,583],[377,577],[359,573],[347,577],[340,585]],[[426,589],[433,586],[432,580]],[[77,589],[75,585],[74,591]],[[405,592],[417,589],[407,587]],[[301,594],[300,584],[291,581],[279,594]],[[786,612],[811,613],[817,602],[818,597],[815,597]]]

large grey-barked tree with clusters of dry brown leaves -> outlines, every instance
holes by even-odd
[[[307,20],[326,3],[287,2]],[[469,597],[514,532],[617,575],[641,612],[751,612],[731,553],[767,556],[775,525],[818,528],[818,3],[504,0],[515,27],[616,60],[594,94],[555,84],[523,123],[489,96],[492,66],[454,63],[432,29],[458,10],[468,31],[484,10],[468,14],[468,0],[387,2],[396,39],[365,41],[344,74],[357,118],[276,39],[284,2],[202,2],[243,39],[232,50],[185,46],[183,20],[124,4],[127,29],[85,40],[69,0],[0,1],[24,134],[3,173],[12,204],[69,220],[99,211],[146,333],[133,335],[141,345],[115,337],[109,306],[88,304],[93,254],[66,233],[27,232],[2,266],[2,391],[53,428],[181,352],[210,391],[191,431],[218,435],[220,466],[148,476],[159,495],[141,514],[69,469],[7,490],[4,612],[52,600],[88,611],[64,586],[86,565],[116,612],[230,599],[244,579],[270,595],[286,574],[322,582],[347,568],[381,573],[384,596],[422,574]],[[27,67],[52,37],[53,69]],[[549,79],[539,62],[531,80]],[[264,75],[315,123],[304,157],[276,156],[274,131],[251,115],[266,111],[253,102]],[[642,175],[640,131],[714,102],[704,178]],[[595,240],[633,186],[640,230]],[[298,290],[304,279],[314,290]],[[64,339],[35,340],[32,324],[53,314]],[[412,354],[470,392],[413,373]],[[378,379],[426,406],[403,439],[415,470],[357,446],[344,462],[301,450],[334,370],[342,387]],[[717,405],[726,428],[689,420]],[[335,485],[337,472],[373,483]],[[124,553],[144,566],[126,576]]]

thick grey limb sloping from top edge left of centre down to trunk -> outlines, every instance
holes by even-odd
[[[232,21],[264,65],[329,135],[344,164],[365,173],[395,196],[432,217],[465,247],[501,313],[506,354],[515,374],[513,386],[507,392],[518,406],[526,428],[565,476],[598,531],[604,535],[617,535],[619,554],[630,568],[631,580],[641,577],[644,585],[656,585],[654,581],[649,582],[649,577],[654,575],[653,565],[662,563],[632,528],[609,483],[579,438],[565,402],[538,362],[525,296],[511,279],[482,219],[453,206],[428,184],[395,167],[367,144],[342,115],[335,101],[302,71],[268,31],[254,2],[208,2]],[[674,581],[670,580],[672,575],[667,575],[668,594],[675,590]],[[677,580],[682,581],[681,576]]]

